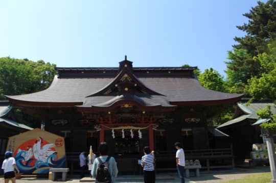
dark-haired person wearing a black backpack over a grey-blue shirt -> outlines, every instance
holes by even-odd
[[[99,145],[99,158],[96,158],[91,170],[91,175],[95,177],[96,183],[109,182],[114,183],[118,175],[118,168],[115,159],[108,156],[108,146],[106,142]]]

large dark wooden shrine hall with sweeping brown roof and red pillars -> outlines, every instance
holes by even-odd
[[[78,167],[79,153],[90,145],[97,153],[102,141],[121,172],[135,170],[131,165],[146,145],[156,152],[157,168],[173,168],[176,141],[188,158],[218,148],[212,118],[242,97],[204,89],[195,69],[132,67],[126,57],[119,67],[56,67],[48,89],[6,97],[14,108],[40,119],[42,129],[64,137],[70,168]]]

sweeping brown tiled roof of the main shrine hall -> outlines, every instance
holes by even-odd
[[[148,99],[142,98],[142,100],[148,100],[149,103],[159,105],[163,103],[171,106],[176,104],[222,104],[237,102],[243,96],[243,94],[223,93],[203,88],[193,74],[196,67],[132,68],[132,62],[122,62],[130,64],[128,72],[139,81],[140,87],[144,87],[142,92],[149,94]],[[31,94],[7,96],[7,98],[12,102],[32,106],[81,106],[87,103],[87,96],[92,96],[109,86],[120,73],[120,69],[128,69],[121,68],[122,65],[124,64],[120,63],[120,68],[109,69],[57,68],[59,75],[55,76],[48,89]],[[136,91],[133,94],[139,96],[140,92]],[[154,92],[156,93],[154,94]],[[154,97],[156,94],[158,97]],[[116,97],[116,94],[113,93],[109,96]],[[102,101],[99,101],[100,99]],[[99,105],[109,99],[108,97],[90,98],[89,102],[95,104],[95,101],[98,101]]]

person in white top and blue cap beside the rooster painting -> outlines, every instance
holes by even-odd
[[[15,163],[15,159],[12,156],[12,152],[7,151],[5,152],[5,160],[2,164],[2,169],[4,169],[5,183],[8,183],[10,180],[12,181],[12,183],[15,183],[14,168],[16,169],[17,173],[19,173],[19,170]]]

